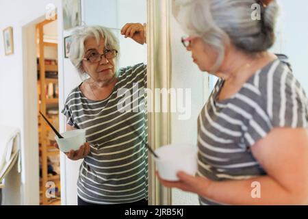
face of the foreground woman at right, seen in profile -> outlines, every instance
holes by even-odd
[[[193,37],[186,49],[192,52],[193,62],[198,65],[200,70],[211,71],[218,57],[218,53],[213,47],[205,43],[202,38]]]

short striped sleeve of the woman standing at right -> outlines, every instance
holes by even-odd
[[[308,101],[290,68],[281,64],[272,75],[268,73],[266,89],[259,90],[261,99],[248,113],[244,123],[244,143],[253,146],[274,127],[307,128]],[[260,82],[261,82],[260,77]]]

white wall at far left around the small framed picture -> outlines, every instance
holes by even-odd
[[[44,16],[48,3],[54,3],[58,8],[61,8],[60,0],[0,1],[0,41],[3,42],[2,30],[8,26],[13,27],[14,37],[13,55],[5,56],[3,43],[0,43],[0,123],[21,129],[22,184],[24,189],[21,203],[26,205],[38,205],[38,196],[35,195],[38,194],[38,148],[31,151],[37,145],[25,144],[29,137],[25,136],[25,131],[33,128],[27,127],[27,124],[24,123],[29,117],[29,114],[25,114],[25,106],[28,101],[35,102],[33,99],[29,100],[24,97],[24,91],[27,90],[25,88],[27,83],[24,81],[27,82],[26,76],[28,75],[25,75],[26,71],[23,69],[27,68],[23,62],[23,48],[25,48],[23,42],[27,43],[29,39],[23,38],[23,27]],[[36,90],[35,85],[29,90]],[[34,116],[33,112],[31,113]]]

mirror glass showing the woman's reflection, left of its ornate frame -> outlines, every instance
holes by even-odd
[[[125,38],[120,32],[127,23],[139,23],[129,25],[127,31],[144,28],[146,1],[81,2],[84,25],[105,28],[95,27],[87,32],[99,29],[105,32],[105,38],[99,38],[99,41],[86,38],[84,41],[84,60],[79,73],[86,77],[82,77],[83,81],[76,83],[66,95],[62,110],[68,123],[66,131],[85,129],[88,142],[79,153],[66,154],[70,159],[68,164],[72,159],[81,162],[77,162],[80,168],[79,165],[69,168],[69,172],[78,172],[79,176],[77,188],[75,182],[66,177],[66,187],[70,190],[66,198],[78,196],[79,205],[147,205],[148,155],[145,144],[148,129],[143,90],[146,87],[146,44]],[[139,29],[138,32],[142,36]],[[75,47],[78,44],[70,44],[71,57]],[[73,190],[68,188],[70,185]]]

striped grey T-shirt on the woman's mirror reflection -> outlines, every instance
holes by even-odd
[[[87,99],[79,86],[68,95],[62,113],[69,125],[86,129],[91,146],[77,182],[84,201],[113,204],[147,199],[148,155],[142,141],[147,142],[145,86],[146,65],[138,64],[120,69],[112,94],[103,101]]]

